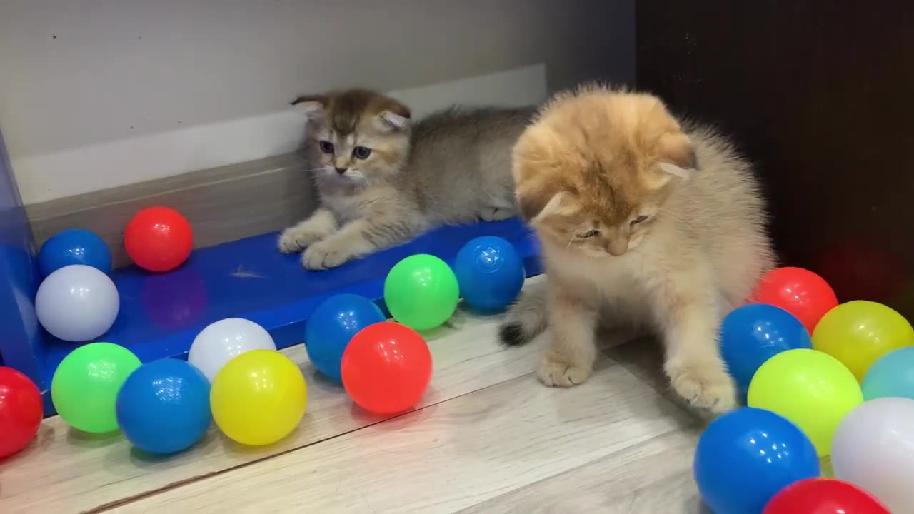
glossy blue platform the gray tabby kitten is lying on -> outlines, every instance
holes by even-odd
[[[462,245],[482,235],[511,241],[524,259],[527,276],[541,273],[537,241],[516,219],[443,227],[403,246],[322,272],[305,271],[297,255],[282,255],[276,246],[277,233],[262,234],[197,250],[171,273],[146,273],[136,267],[115,270],[112,279],[121,295],[121,311],[100,340],[130,348],[143,362],[184,358],[203,327],[236,316],[265,327],[277,347],[289,347],[302,342],[304,323],[325,298],[361,294],[387,312],[383,284],[394,264],[414,253],[431,253],[453,264]],[[31,301],[34,293],[27,298]],[[41,341],[18,340],[18,344],[6,340],[6,346],[0,342],[0,352],[27,363],[25,369],[45,391],[46,412],[52,413],[50,380],[60,360],[79,345],[43,331]]]

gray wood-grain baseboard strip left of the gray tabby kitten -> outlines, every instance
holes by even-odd
[[[281,230],[314,209],[301,155],[286,154],[189,172],[26,206],[37,245],[60,230],[92,230],[112,250],[115,267],[130,263],[123,230],[136,211],[166,206],[194,227],[194,246]]]

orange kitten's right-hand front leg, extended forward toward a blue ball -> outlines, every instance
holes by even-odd
[[[737,391],[717,344],[719,325],[710,281],[674,284],[655,298],[664,336],[664,371],[676,393],[698,409],[727,412]]]

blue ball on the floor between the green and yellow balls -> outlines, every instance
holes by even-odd
[[[209,380],[186,360],[143,364],[117,395],[117,423],[134,446],[150,454],[174,454],[207,434]]]

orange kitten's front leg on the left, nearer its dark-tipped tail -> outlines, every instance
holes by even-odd
[[[552,334],[537,376],[550,387],[571,387],[587,380],[593,371],[597,312],[577,298],[551,293],[548,324]]]

